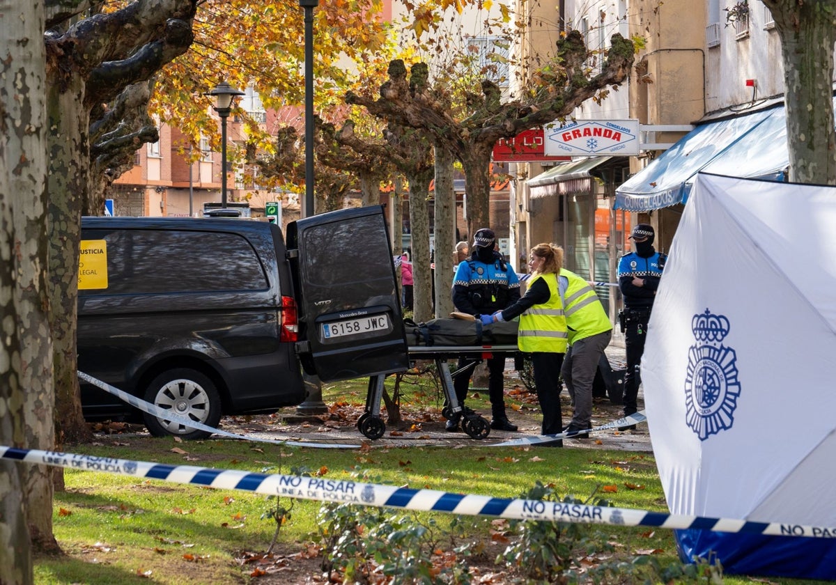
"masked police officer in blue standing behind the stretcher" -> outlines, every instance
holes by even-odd
[[[472,254],[456,268],[453,277],[453,304],[461,313],[476,316],[490,315],[510,307],[520,298],[520,282],[517,272],[508,266],[502,254],[495,250],[497,238],[492,230],[482,228],[473,237]],[[487,389],[491,399],[491,428],[517,430],[505,413],[505,354],[493,354],[487,360],[489,372]],[[460,359],[453,379],[456,399],[464,405],[467,388],[475,360]],[[470,366],[470,367],[468,367]],[[459,430],[459,416],[447,420],[446,430]]]

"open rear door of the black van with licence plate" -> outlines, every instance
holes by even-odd
[[[305,371],[332,381],[407,369],[383,207],[306,217],[286,236]]]

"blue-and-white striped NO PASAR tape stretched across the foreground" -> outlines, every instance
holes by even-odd
[[[263,474],[194,465],[167,465],[95,457],[59,451],[0,446],[0,459],[34,465],[52,465],[78,471],[102,471],[120,476],[169,481],[222,490],[252,491],[267,496],[437,511],[463,516],[492,516],[508,520],[561,521],[611,524],[624,527],[697,529],[715,532],[747,532],[772,536],[836,538],[836,527],[816,527],[779,522],[757,522],[669,514],[631,508],[589,506],[558,501],[497,498],[449,491],[413,490],[406,487],[324,479],[322,477]]]

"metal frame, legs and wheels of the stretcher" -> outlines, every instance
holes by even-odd
[[[472,371],[483,360],[492,358],[493,354],[516,354],[518,351],[517,345],[430,345],[408,348],[410,362],[416,359],[431,359],[436,363],[436,369],[438,369],[441,378],[441,388],[444,390],[446,398],[446,406],[441,414],[446,419],[450,419],[452,415],[461,414],[461,427],[473,439],[487,438],[487,435],[491,434],[491,425],[482,415],[459,404],[458,399],[456,399],[456,390],[453,389],[453,376],[467,370]],[[447,360],[460,358],[475,361],[451,373]],[[386,432],[385,422],[380,418],[380,401],[383,399],[385,378],[385,375],[370,377],[365,410],[357,420],[359,431],[371,440],[380,439]]]

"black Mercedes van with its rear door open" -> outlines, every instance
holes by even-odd
[[[268,221],[84,217],[79,370],[217,426],[222,415],[301,403],[300,364],[324,381],[406,369],[382,207],[289,230],[290,250]],[[81,391],[88,420],[140,415],[91,384]],[[207,435],[143,417],[153,435]]]

